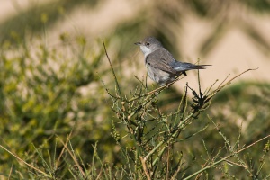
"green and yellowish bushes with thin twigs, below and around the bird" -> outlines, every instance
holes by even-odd
[[[105,41],[63,33],[59,35],[61,43],[49,47],[47,28],[53,24],[49,17],[65,12],[58,10],[75,8],[71,2],[64,4],[59,0],[54,8],[29,10],[37,15],[24,12],[26,16],[22,17],[36,18],[31,25],[41,24],[40,29],[22,28],[32,31],[33,36],[15,31],[19,16],[7,20],[14,24],[14,31],[1,26],[5,29],[0,31],[7,34],[0,51],[1,178],[270,177],[269,84],[235,83],[235,76],[213,82],[217,87],[202,89],[203,79],[198,72],[199,89],[186,84],[184,92],[179,93],[174,87],[184,81],[182,76],[162,87],[148,85],[136,75],[126,76],[125,68],[130,62],[124,59],[130,48],[118,46],[117,40],[128,44],[135,33],[144,34],[147,29],[166,46],[175,43],[174,33],[157,30],[155,27],[161,26],[149,23],[148,15],[120,24]],[[267,1],[261,2],[266,5],[252,1],[238,1],[238,5],[267,13]],[[78,4],[82,3],[86,4]],[[94,8],[96,4],[89,6]],[[166,12],[162,18],[175,23],[179,21],[175,17],[183,13],[177,9],[181,5],[205,18],[218,14],[213,12],[216,8],[206,8],[201,1],[177,4],[175,11],[167,11],[173,7],[162,2],[156,5],[152,8]],[[145,14],[148,12],[160,17],[153,9]],[[201,49],[203,55],[221,40],[218,27],[226,23],[216,24],[217,31],[202,46],[206,47]],[[251,38],[261,37],[254,40],[266,52],[268,44],[262,41],[262,35],[253,28],[251,31]],[[122,38],[123,34],[130,39]],[[245,76],[247,71],[239,76]]]

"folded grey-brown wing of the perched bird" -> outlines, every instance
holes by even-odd
[[[149,66],[176,75],[177,70],[170,65],[174,62],[175,58],[166,49],[157,49],[146,57],[146,63]]]

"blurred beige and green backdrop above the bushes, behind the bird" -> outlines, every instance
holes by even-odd
[[[156,36],[175,58],[193,63],[200,58],[201,64],[213,65],[202,72],[206,86],[257,67],[241,79],[263,83],[270,80],[268,5],[265,0],[2,0],[1,40],[7,39],[11,30],[28,37],[42,34],[45,18],[49,47],[58,46],[58,36],[65,33],[83,34],[87,40],[113,38],[111,56],[121,50],[118,55],[126,56],[127,64],[139,61],[142,65],[132,74],[145,76],[143,56],[133,43]]]

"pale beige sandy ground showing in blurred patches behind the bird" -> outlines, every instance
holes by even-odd
[[[52,0],[0,0],[0,22],[4,19],[16,14],[18,7],[24,10],[33,3],[47,3]],[[82,7],[71,14],[64,22],[59,22],[54,28],[50,29],[49,43],[58,43],[58,35],[63,31],[80,31],[89,37],[103,37],[104,34],[112,30],[118,23],[129,20],[139,12],[142,5],[148,5],[146,0],[135,1],[125,0],[109,0],[106,4],[98,5],[93,11],[89,11]],[[110,17],[110,18],[107,18]],[[252,21],[261,33],[265,34],[266,39],[270,42],[270,16],[253,16]],[[194,16],[184,18],[183,24],[184,37],[180,40],[181,46],[184,47],[184,57],[192,59],[195,62],[197,58],[201,58],[197,52],[200,43],[205,34],[211,31],[211,23],[202,21]],[[133,46],[130,43],[130,46]],[[136,54],[137,53],[137,54]],[[141,59],[143,56],[138,53],[138,49],[134,48],[134,54]],[[135,57],[136,58],[136,57]],[[179,59],[182,60],[182,59]],[[269,68],[270,57],[259,51],[253,41],[249,40],[237,28],[231,29],[220,43],[211,51],[207,57],[201,58],[201,64],[211,64],[207,70],[203,70],[201,77],[203,86],[210,86],[216,79],[222,81],[226,76],[235,76],[248,68],[257,68],[256,71],[249,71],[236,81],[251,80],[256,82],[270,82]],[[187,60],[182,60],[187,61]],[[145,69],[142,66],[134,72],[137,76],[144,76]],[[184,78],[180,86],[189,82],[190,85],[196,84],[196,76],[194,72],[189,72],[189,76]],[[181,89],[181,88],[180,88]]]

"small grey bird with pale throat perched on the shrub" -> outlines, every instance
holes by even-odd
[[[154,37],[148,37],[135,44],[139,45],[144,54],[148,76],[161,86],[173,82],[177,76],[182,74],[186,76],[185,71],[211,66],[193,65],[175,60],[173,55]]]

